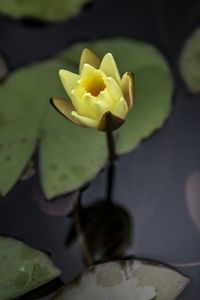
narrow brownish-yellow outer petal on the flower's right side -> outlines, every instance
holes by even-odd
[[[126,72],[121,81],[121,87],[124,94],[124,98],[128,104],[128,108],[131,109],[135,98],[134,92],[134,75],[131,72]]]

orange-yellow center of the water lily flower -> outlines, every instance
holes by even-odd
[[[106,88],[101,74],[93,73],[82,80],[82,85],[87,93],[97,97]]]

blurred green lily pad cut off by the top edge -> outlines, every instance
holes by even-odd
[[[76,15],[91,0],[0,0],[0,12],[15,18],[60,21]]]

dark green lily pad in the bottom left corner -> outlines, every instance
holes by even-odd
[[[43,252],[0,237],[0,300],[19,297],[60,275]]]

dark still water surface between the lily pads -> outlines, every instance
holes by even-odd
[[[10,69],[76,41],[109,36],[153,42],[167,56],[176,82],[172,113],[161,130],[116,162],[113,199],[131,220],[125,253],[173,264],[200,261],[200,208],[192,209],[200,198],[200,97],[187,92],[177,72],[182,43],[200,23],[197,2],[96,0],[78,17],[49,26],[0,18],[0,51]],[[83,206],[105,197],[105,184],[103,171],[83,193]],[[44,214],[35,201],[37,190],[34,176],[1,200],[0,233],[50,252],[66,282],[85,269],[78,241],[66,246],[72,219]],[[199,300],[200,266],[179,270],[192,278],[179,299]]]

